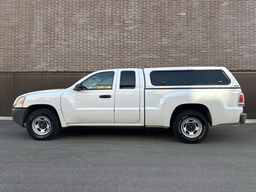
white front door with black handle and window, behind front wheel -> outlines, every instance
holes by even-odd
[[[116,72],[105,70],[85,79],[82,90],[71,86],[61,96],[67,124],[114,124]]]

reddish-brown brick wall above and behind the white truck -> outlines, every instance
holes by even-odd
[[[0,2],[0,71],[256,70],[254,0]]]

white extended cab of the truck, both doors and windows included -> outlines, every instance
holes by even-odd
[[[144,86],[142,69],[94,72],[62,94],[65,122],[67,126],[144,126]]]

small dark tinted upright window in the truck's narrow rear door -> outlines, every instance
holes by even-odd
[[[121,71],[120,89],[135,89],[135,71]]]

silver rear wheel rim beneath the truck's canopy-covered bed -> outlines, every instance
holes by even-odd
[[[202,124],[198,119],[189,117],[182,122],[181,131],[186,137],[195,138],[202,132]]]

